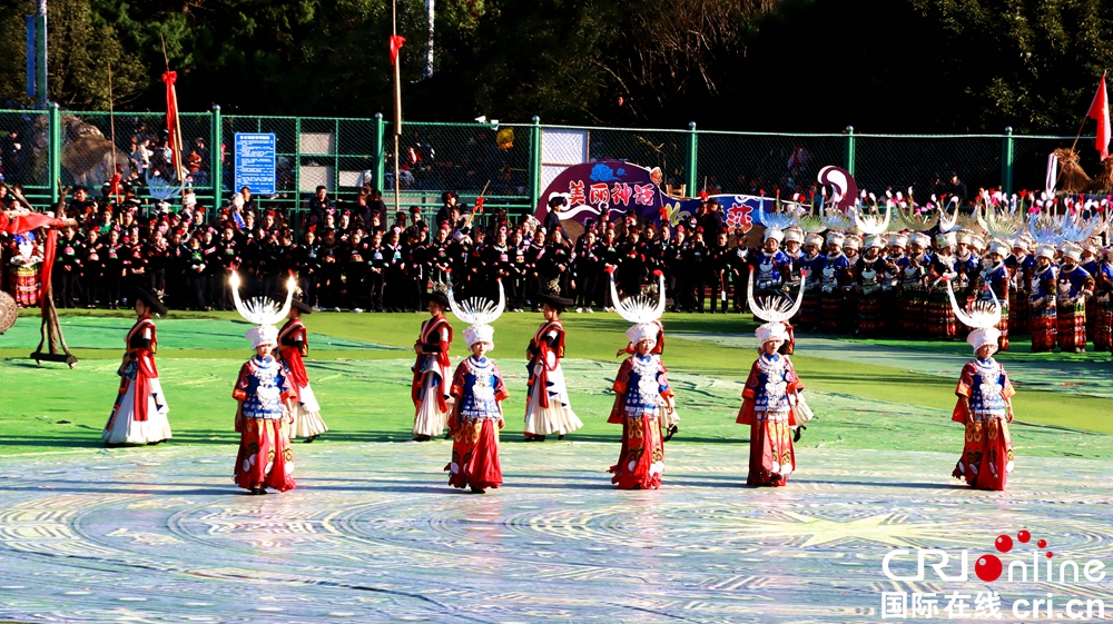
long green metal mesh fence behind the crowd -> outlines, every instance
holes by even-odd
[[[223,206],[235,192],[233,145],[236,132],[273,132],[277,147],[276,195],[264,205],[302,210],[317,186],[351,200],[358,188],[383,190],[394,199],[394,130],[381,115],[365,119],[260,117],[208,112],[180,116],[185,153],[193,158],[193,186],[208,206]],[[406,121],[398,137],[401,208],[432,210],[452,190],[474,201],[485,189],[486,206],[512,215],[531,212],[544,190],[542,142],[546,131],[583,137],[583,153],[569,162],[620,159],[660,167],[664,184],[688,195],[709,192],[806,192],[818,170],[839,165],[859,188],[875,192],[914,187],[924,197],[937,178],[958,175],[971,192],[978,187],[1005,190],[1042,188],[1047,156],[1073,137],[1002,135],[758,133],[697,129],[590,128],[532,123],[437,123]],[[11,132],[16,132],[11,136]],[[96,194],[115,162],[165,169],[165,157],[142,160],[138,146],[165,136],[159,112],[0,110],[0,170],[19,184],[36,206],[57,198],[59,185],[82,184]],[[1087,140],[1080,143],[1087,147]],[[14,146],[19,146],[18,149]],[[1092,143],[1090,143],[1092,145]],[[157,151],[157,150],[156,150]],[[197,152],[196,156],[190,155]],[[1097,171],[1092,149],[1081,149],[1083,168]],[[167,172],[169,172],[167,170]],[[152,200],[144,194],[146,202]],[[489,210],[490,211],[490,210]]]

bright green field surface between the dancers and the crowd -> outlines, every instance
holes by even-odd
[[[87,316],[83,310],[79,315]],[[98,311],[96,316],[127,318],[125,313]],[[205,345],[207,331],[226,337],[246,329],[242,323],[232,323],[238,320],[235,313],[174,314],[171,318],[224,321],[197,324],[205,329],[188,336],[188,340],[181,338],[190,346]],[[314,334],[396,347],[312,349],[311,379],[332,428],[315,444],[410,438],[413,405],[408,367],[413,358],[397,348],[413,346],[424,318],[416,314],[327,313],[306,317]],[[459,358],[466,354],[461,337],[464,324],[454,318],[452,321],[456,331],[452,355]],[[37,329],[33,317],[21,317],[19,323],[32,324]],[[538,314],[508,314],[495,323],[492,357],[508,377],[512,393],[504,406],[508,443],[519,439],[516,434],[521,432],[524,350],[540,323]],[[667,315],[664,323],[670,333],[740,335],[752,334],[755,328],[748,316],[733,315]],[[577,440],[618,440],[618,427],[607,425],[605,419],[612,402],[610,379],[619,363],[614,351],[626,346],[623,331],[628,326],[613,314],[567,315],[572,402],[585,423],[572,436]],[[0,361],[0,454],[100,447],[100,428],[116,395],[121,349],[79,349],[76,355],[81,361],[75,370],[61,365],[39,368],[22,359],[38,343],[36,331],[26,329],[20,328],[22,338],[16,344],[9,340],[12,335],[0,337],[0,357],[10,358]],[[97,344],[122,344],[125,329],[105,331]],[[158,367],[170,404],[174,444],[234,444],[235,404],[230,393],[239,365],[252,353],[247,341],[243,340],[243,348],[176,348],[179,345],[168,336],[160,337]],[[937,348],[926,343],[899,346],[923,353]],[[807,355],[807,338],[800,339],[797,353],[792,360],[806,387],[816,393],[811,403],[819,415],[805,436],[805,446],[945,452],[961,447],[962,428],[949,422],[957,379],[811,357]],[[683,418],[679,440],[713,444],[746,439],[747,428],[733,420],[740,403],[739,383],[749,373],[755,355],[751,349],[669,337],[664,361],[679,394]],[[915,350],[909,357],[915,357]],[[1068,359],[1056,354],[1048,361],[1053,364],[1056,357]],[[1057,429],[1113,433],[1107,404],[1064,392],[1022,392],[1015,399],[1017,419],[1041,426],[1014,427],[1018,454],[1113,457],[1113,438]]]

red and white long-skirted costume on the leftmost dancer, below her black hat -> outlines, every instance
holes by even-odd
[[[130,359],[120,365],[120,389],[100,437],[105,444],[151,444],[170,439],[169,407],[155,368],[158,337],[155,321],[145,316],[126,339]]]

